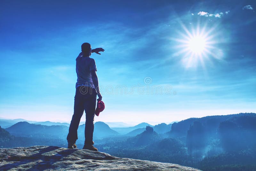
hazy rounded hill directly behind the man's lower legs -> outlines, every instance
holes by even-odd
[[[78,137],[80,137],[80,140],[84,141],[84,129],[85,124],[80,125],[77,130]],[[97,138],[104,138],[109,136],[117,136],[119,133],[114,131],[113,129],[109,128],[109,126],[104,122],[95,122],[94,123],[94,131],[93,131],[93,139]]]

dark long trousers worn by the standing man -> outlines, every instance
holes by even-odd
[[[74,103],[74,114],[70,122],[67,140],[68,143],[74,144],[77,137],[77,129],[81,117],[85,111],[85,130],[84,144],[93,144],[92,136],[94,130],[94,112],[96,107],[97,93],[96,89],[92,89],[86,86],[79,86],[76,88],[75,103]]]

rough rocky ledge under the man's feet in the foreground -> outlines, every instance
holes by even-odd
[[[103,152],[56,146],[0,149],[0,170],[171,170],[199,171],[155,161],[118,158]]]

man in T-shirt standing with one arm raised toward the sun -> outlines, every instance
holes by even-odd
[[[76,95],[74,103],[74,114],[69,126],[69,132],[67,136],[68,148],[76,148],[77,129],[81,117],[85,111],[86,120],[85,120],[85,141],[83,149],[88,149],[92,151],[98,151],[97,148],[93,146],[94,142],[92,141],[93,129],[94,129],[94,112],[96,107],[96,97],[98,95],[98,101],[102,99],[99,90],[99,81],[96,74],[97,68],[95,60],[90,58],[93,52],[100,54],[103,52],[102,48],[91,48],[91,44],[83,43],[82,52],[76,58]]]

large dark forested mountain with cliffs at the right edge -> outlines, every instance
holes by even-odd
[[[167,134],[186,144],[188,154],[200,161],[205,156],[254,149],[255,125],[256,113],[206,116],[173,123]]]

